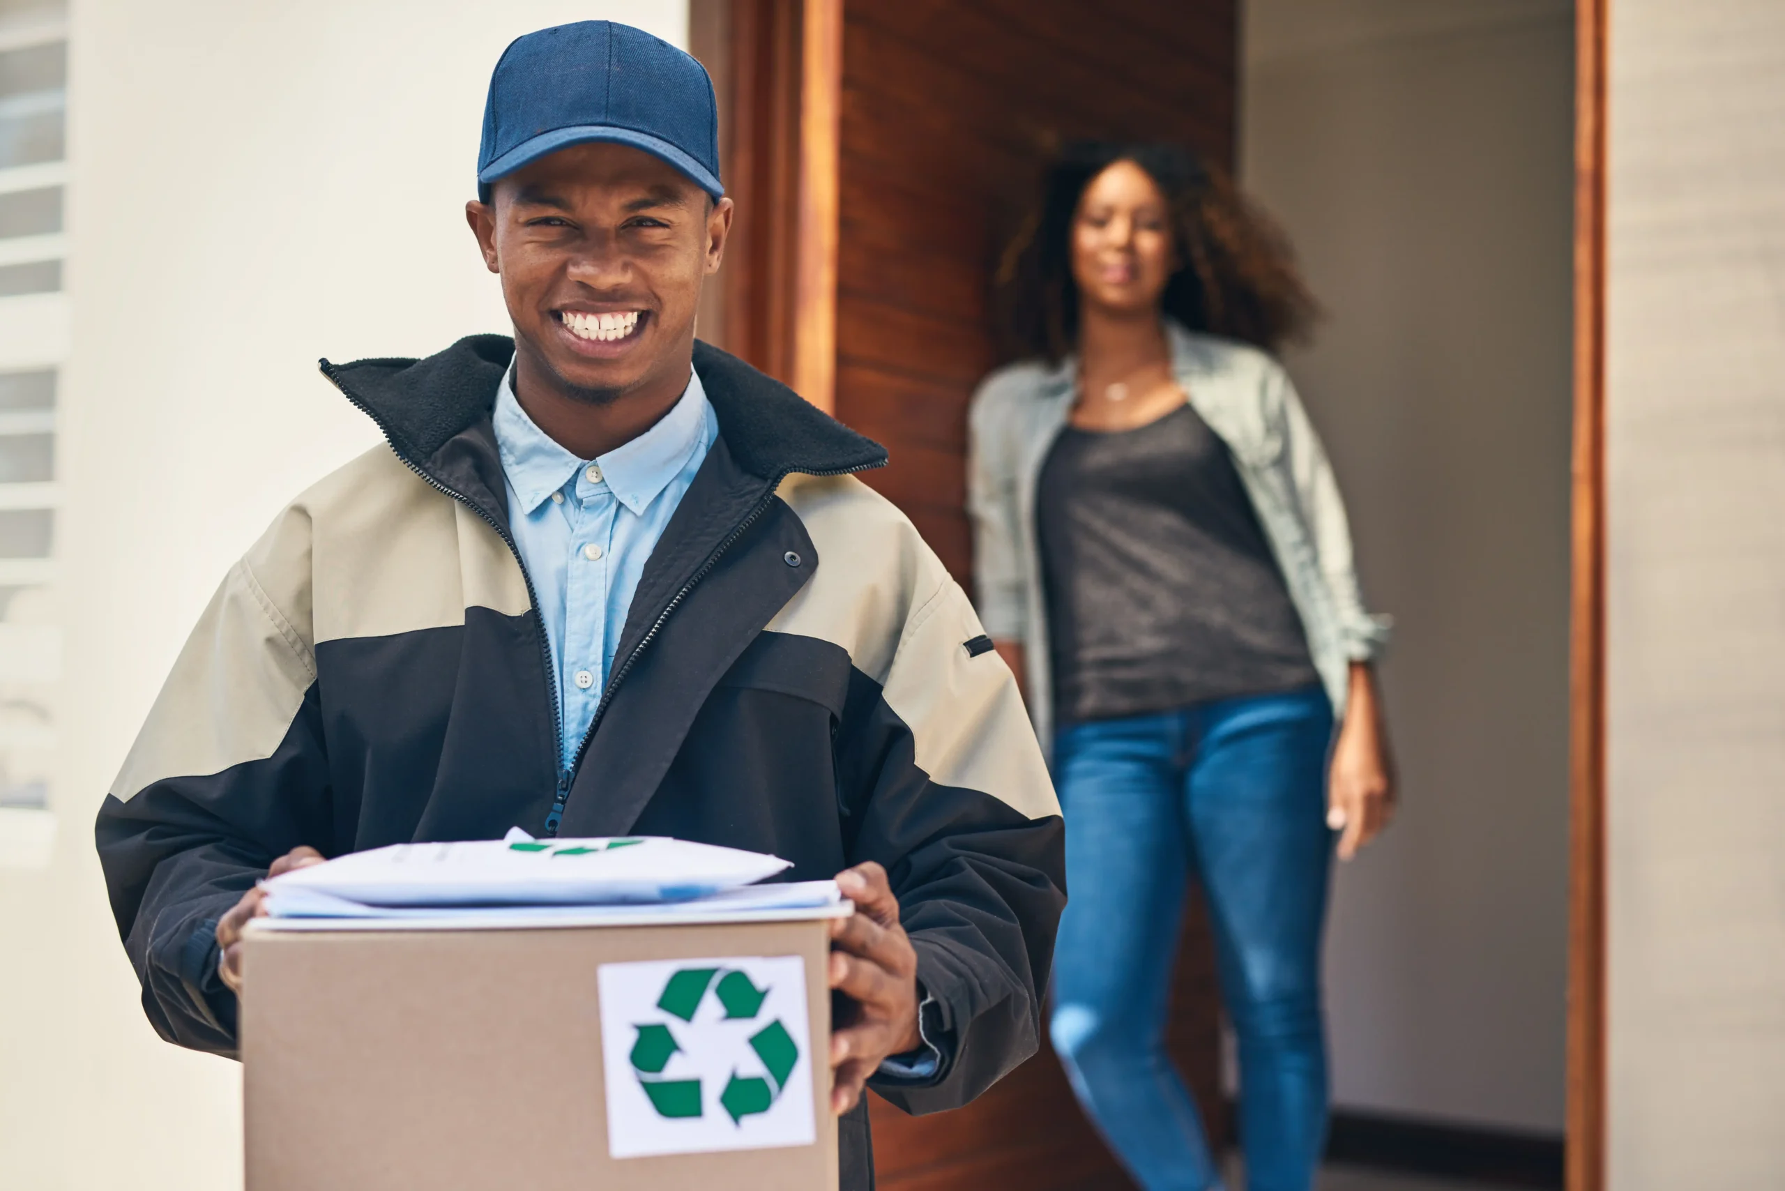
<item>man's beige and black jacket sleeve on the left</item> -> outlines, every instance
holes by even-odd
[[[236,1050],[218,918],[275,857],[328,839],[305,529],[287,512],[230,570],[95,830],[143,1009],[161,1037],[195,1050]]]

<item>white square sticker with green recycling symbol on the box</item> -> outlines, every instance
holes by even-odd
[[[818,1139],[798,955],[602,964],[596,980],[612,1157]]]

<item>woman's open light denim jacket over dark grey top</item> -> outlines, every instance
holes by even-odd
[[[1191,407],[1233,452],[1264,537],[1301,616],[1333,714],[1344,716],[1353,661],[1376,657],[1389,618],[1364,611],[1351,529],[1332,464],[1282,364],[1266,352],[1167,320],[1171,371]],[[975,604],[985,632],[1021,641],[1028,709],[1044,743],[1053,729],[1048,602],[1035,546],[1035,480],[1073,407],[1078,361],[1010,364],[973,395],[967,511]]]

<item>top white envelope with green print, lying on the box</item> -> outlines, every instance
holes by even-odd
[[[791,868],[741,848],[628,836],[400,843],[266,880],[270,895],[316,893],[369,907],[623,905],[689,902]]]

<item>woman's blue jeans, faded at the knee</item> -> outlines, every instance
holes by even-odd
[[[1332,729],[1326,695],[1308,687],[1076,723],[1055,739],[1067,904],[1050,1032],[1080,1104],[1148,1191],[1221,1186],[1164,1046],[1191,873],[1239,1039],[1248,1187],[1314,1186]]]

